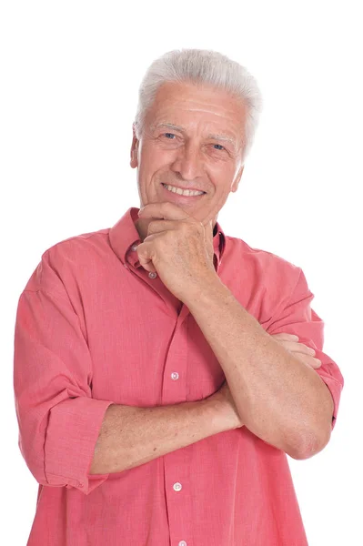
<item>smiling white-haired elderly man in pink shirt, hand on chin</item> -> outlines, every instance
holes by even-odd
[[[323,450],[343,378],[301,268],[228,237],[261,99],[217,52],[140,87],[141,208],[48,248],[15,325],[28,546],[302,546],[287,455]]]

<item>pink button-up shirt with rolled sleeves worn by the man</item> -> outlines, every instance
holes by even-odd
[[[19,298],[19,448],[39,483],[27,546],[306,545],[286,453],[246,427],[89,474],[111,403],[196,401],[225,379],[187,306],[138,264],[137,211],[47,249]],[[213,240],[217,275],[241,305],[268,333],[317,350],[334,426],[343,378],[322,352],[324,323],[301,268],[218,223]]]

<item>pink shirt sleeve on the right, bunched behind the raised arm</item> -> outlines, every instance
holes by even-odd
[[[267,327],[267,333],[295,334],[299,343],[304,343],[316,350],[315,357],[321,360],[321,366],[315,371],[327,385],[334,402],[331,428],[334,429],[344,379],[337,363],[323,352],[324,321],[310,307],[314,294],[309,290],[307,279],[301,268],[297,268],[298,278],[292,294],[279,309],[275,318]]]

